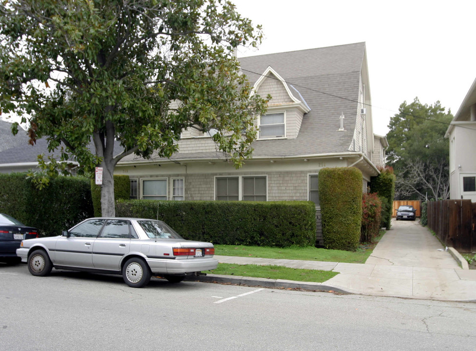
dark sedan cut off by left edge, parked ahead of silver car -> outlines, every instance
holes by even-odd
[[[0,262],[20,262],[17,249],[21,240],[38,237],[38,230],[0,213]]]

